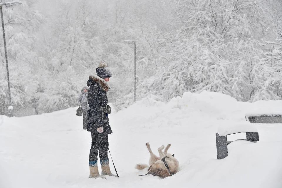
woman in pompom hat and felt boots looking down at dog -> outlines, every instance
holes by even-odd
[[[92,144],[89,154],[89,178],[98,178],[103,175],[115,176],[110,171],[108,158],[108,134],[113,133],[109,124],[109,106],[107,92],[110,89],[107,82],[112,77],[105,62],[101,62],[96,68],[97,75],[90,75],[87,81],[88,90],[88,119],[87,130],[91,132]],[[101,164],[101,175],[98,171],[98,151]],[[103,177],[102,177],[103,178]]]

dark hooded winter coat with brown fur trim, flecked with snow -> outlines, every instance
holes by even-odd
[[[88,89],[88,119],[87,130],[97,134],[113,133],[109,124],[108,114],[105,108],[108,104],[107,92],[110,87],[105,80],[97,75],[90,75],[87,81]],[[104,132],[99,133],[97,128],[104,127]]]

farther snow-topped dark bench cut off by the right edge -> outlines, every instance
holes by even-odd
[[[282,123],[281,114],[246,114],[245,117],[251,123]]]

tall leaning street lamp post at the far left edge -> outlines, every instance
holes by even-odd
[[[0,14],[1,14],[1,22],[2,22],[2,31],[3,31],[3,40],[4,40],[4,50],[5,50],[5,59],[6,59],[6,70],[7,70],[7,82],[8,82],[8,97],[9,97],[9,107],[8,107],[8,116],[13,117],[13,106],[11,101],[11,89],[10,89],[10,77],[9,77],[9,67],[8,67],[8,56],[7,56],[7,48],[6,48],[6,38],[5,38],[5,28],[4,28],[4,19],[3,19],[3,6],[11,7],[14,5],[19,5],[21,2],[11,1],[8,3],[0,3]]]

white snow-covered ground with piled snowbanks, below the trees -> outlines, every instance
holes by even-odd
[[[0,116],[0,187],[282,187],[282,124],[252,124],[260,141],[232,142],[223,160],[216,159],[215,141],[218,127],[250,125],[245,114],[282,113],[280,100],[243,103],[219,93],[188,92],[169,103],[145,98],[113,112],[109,142],[120,178],[107,180],[88,179],[91,134],[75,113],[69,108]],[[148,163],[146,142],[156,154],[161,145],[172,144],[169,153],[179,160],[180,171],[165,179],[138,176],[146,174],[134,168]]]

